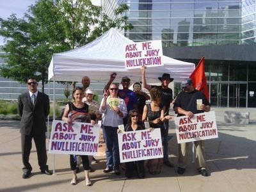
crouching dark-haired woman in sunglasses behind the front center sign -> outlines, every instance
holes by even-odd
[[[136,109],[132,109],[129,111],[128,122],[125,125],[125,132],[127,131],[140,131],[145,129],[143,124],[139,119],[139,111]],[[118,132],[121,132],[118,129]],[[125,176],[131,178],[133,176],[133,171],[136,170],[138,177],[140,179],[145,178],[145,167],[144,160],[141,161],[131,161],[125,163]]]

